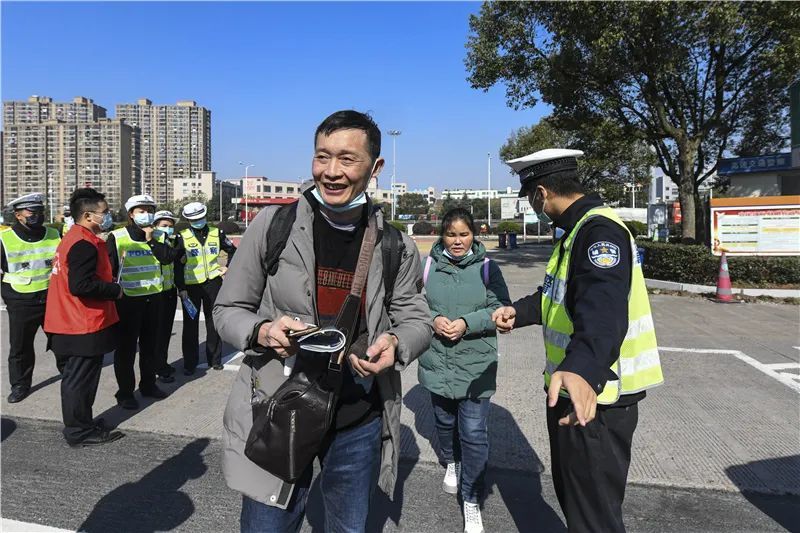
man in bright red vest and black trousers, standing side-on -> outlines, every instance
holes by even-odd
[[[119,316],[105,242],[99,237],[113,221],[105,196],[94,189],[72,193],[75,225],[56,249],[47,295],[44,330],[56,357],[67,360],[61,377],[64,438],[70,446],[106,444],[123,436],[93,420],[103,355],[116,348]]]

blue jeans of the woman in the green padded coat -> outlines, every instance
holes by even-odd
[[[480,503],[489,462],[489,398],[453,400],[431,393],[431,401],[442,459],[461,463],[461,497]]]

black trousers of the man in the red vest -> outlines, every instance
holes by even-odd
[[[100,383],[103,355],[68,356],[61,377],[61,413],[64,418],[64,438],[77,443],[94,430],[92,405]]]

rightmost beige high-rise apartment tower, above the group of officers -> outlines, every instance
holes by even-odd
[[[137,193],[169,202],[176,194],[174,180],[211,170],[210,110],[191,100],[153,105],[141,99],[118,104],[116,116],[138,129],[139,146],[131,148]]]

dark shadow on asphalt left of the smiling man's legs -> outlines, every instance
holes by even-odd
[[[206,473],[203,451],[209,439],[187,444],[135,483],[126,483],[95,505],[78,531],[151,533],[178,528],[195,512],[191,498],[180,489]]]

